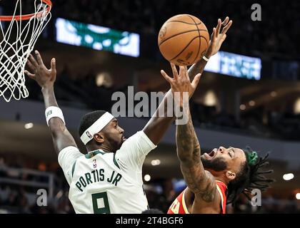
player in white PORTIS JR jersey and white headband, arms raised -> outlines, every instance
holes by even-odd
[[[226,18],[226,21],[229,19]],[[224,28],[225,33],[230,26],[231,22]],[[212,37],[215,32],[214,28]],[[190,76],[198,73],[192,83],[182,80],[186,78],[183,77],[184,74],[188,73],[186,67],[180,67],[178,73],[176,66],[171,64],[173,80],[181,90],[187,88],[190,97],[199,83],[209,57],[219,51],[223,41],[224,39],[211,39],[204,58],[189,69]],[[56,103],[55,59],[51,60],[51,68],[48,70],[39,52],[35,53],[36,59],[30,55],[27,62],[33,73],[25,73],[41,86],[46,106],[46,122],[51,131],[59,165],[70,185],[69,199],[75,212],[141,213],[148,209],[141,176],[142,165],[146,155],[160,142],[175,117],[158,117],[156,110],[144,129],[126,140],[124,130],[113,115],[105,111],[87,113],[79,127],[80,138],[88,151],[84,155],[79,152],[74,138],[66,129],[64,115]],[[164,71],[162,73],[164,74]],[[166,93],[158,109],[166,110],[166,100],[170,97],[172,98],[171,90]]]

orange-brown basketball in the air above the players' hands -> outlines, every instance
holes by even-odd
[[[209,32],[196,16],[179,14],[161,26],[159,50],[167,61],[189,66],[199,61],[209,46]]]

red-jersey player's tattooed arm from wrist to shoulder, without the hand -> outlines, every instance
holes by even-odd
[[[211,202],[216,196],[216,182],[214,176],[204,170],[202,165],[200,145],[191,121],[189,108],[186,108],[185,114],[189,116],[189,122],[186,125],[176,126],[176,147],[181,172],[195,196]]]

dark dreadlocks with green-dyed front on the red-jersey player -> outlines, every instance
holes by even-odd
[[[229,182],[227,204],[232,203],[234,205],[241,193],[251,200],[249,193],[252,190],[259,189],[264,191],[274,182],[274,180],[267,179],[264,176],[273,172],[273,170],[263,170],[266,165],[269,165],[269,162],[266,160],[269,157],[269,153],[264,157],[259,157],[254,150],[251,150],[251,147],[246,147],[244,153],[246,162],[241,165],[241,171],[236,175],[236,178]]]

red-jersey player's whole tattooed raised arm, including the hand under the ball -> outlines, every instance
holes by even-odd
[[[174,68],[174,66],[172,66]],[[176,145],[177,155],[181,163],[181,172],[184,175],[189,189],[195,193],[196,199],[201,197],[206,202],[214,200],[216,193],[216,183],[210,172],[206,172],[200,160],[200,145],[191,122],[189,110],[189,99],[184,100],[184,93],[192,94],[196,89],[200,74],[196,75],[194,81],[190,81],[186,67],[179,67],[179,74],[174,73],[174,78],[170,78],[162,72],[162,76],[171,85],[171,92],[174,95],[174,103],[183,111],[184,119],[187,121],[182,125],[176,125]]]

